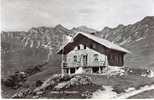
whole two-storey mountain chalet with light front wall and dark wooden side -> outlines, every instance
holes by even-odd
[[[62,54],[64,74],[74,74],[79,68],[86,73],[103,73],[108,66],[122,67],[128,50],[94,34],[79,32],[71,42],[63,45],[57,54]]]

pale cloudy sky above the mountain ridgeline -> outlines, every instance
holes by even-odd
[[[154,0],[1,0],[0,24],[3,31],[57,24],[101,30],[132,24],[145,16],[154,16]]]

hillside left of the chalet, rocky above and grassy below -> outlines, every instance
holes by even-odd
[[[8,76],[17,70],[45,61],[49,62],[47,68],[58,66],[60,56],[55,52],[62,45],[63,40],[64,43],[65,40],[67,41],[66,36],[71,34],[69,32],[61,25],[54,28],[31,28],[27,32],[2,32],[2,76]]]

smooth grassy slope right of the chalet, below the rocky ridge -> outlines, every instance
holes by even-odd
[[[125,65],[134,68],[148,68],[154,71],[154,35],[127,46],[132,54],[126,55]]]

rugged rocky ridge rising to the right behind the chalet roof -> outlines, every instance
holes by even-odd
[[[125,45],[152,35],[154,32],[154,17],[148,16],[135,24],[124,26],[122,24],[115,28],[105,27],[99,32],[99,36],[114,43]]]

